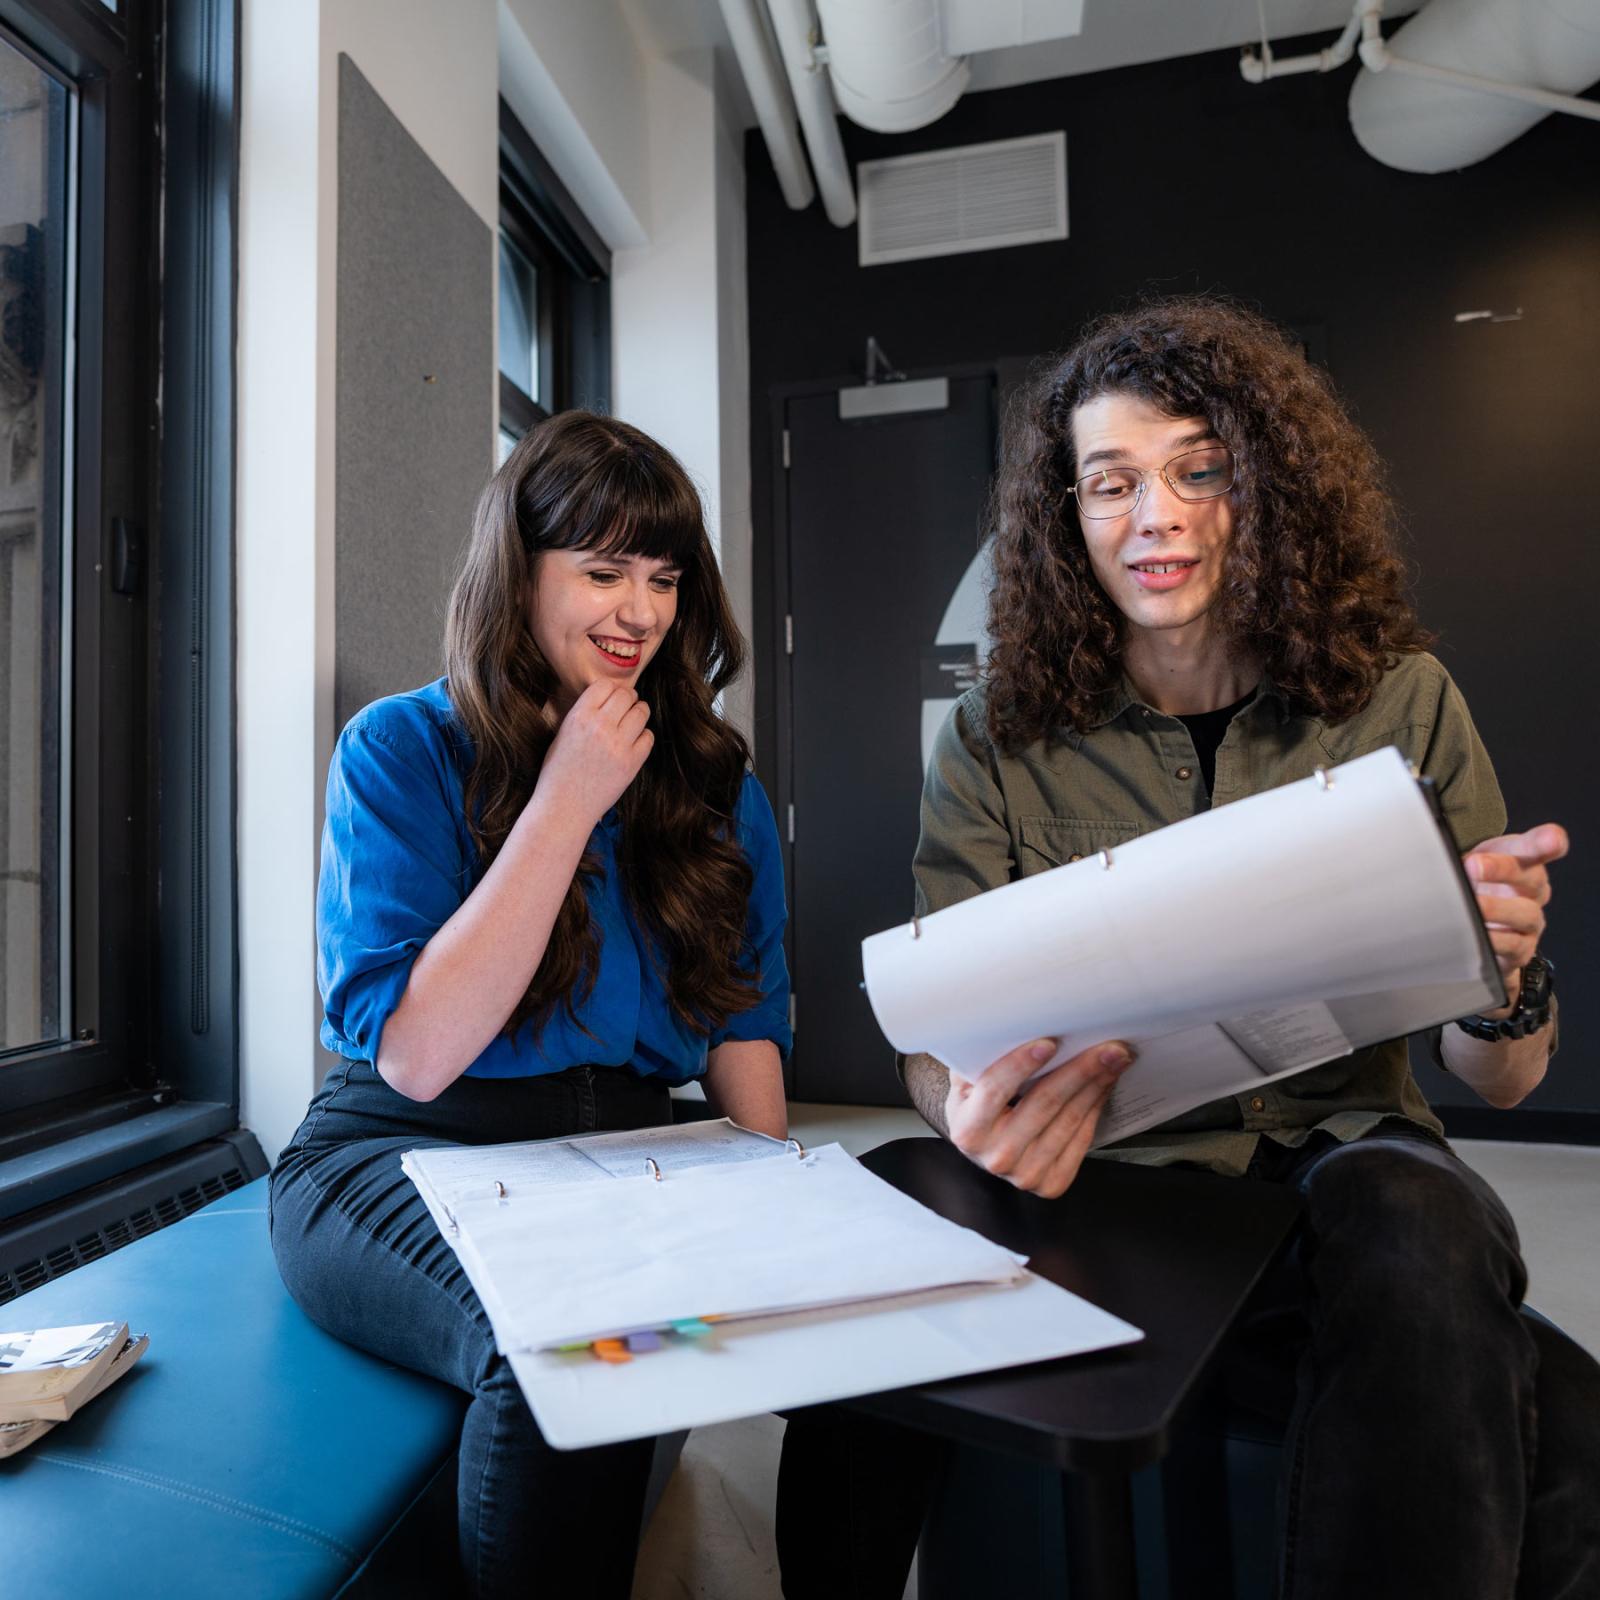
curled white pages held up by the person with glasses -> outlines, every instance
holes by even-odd
[[[1291,1013],[1293,1026],[1258,1016],[1243,1042],[1264,1062],[1301,1056],[1302,1069],[1394,1037],[1352,1034],[1358,1016],[1387,1021],[1394,1008],[1344,1013],[1346,998],[1448,992],[1483,1005],[1498,992],[1459,861],[1394,749],[1326,784],[1286,784],[1147,834],[1109,864],[1072,862],[923,917],[915,933],[874,934],[862,966],[896,1050],[976,1077],[1029,1038],[1059,1038],[1054,1061],[1125,1038],[1139,1053],[1118,1088],[1130,1099],[1141,1078],[1139,1096],[1158,1093],[1150,1066],[1176,1067],[1186,1050],[1197,1074],[1243,1061],[1221,1093],[1259,1078],[1245,1051],[1211,1037],[1219,1022]]]

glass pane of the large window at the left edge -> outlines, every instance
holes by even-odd
[[[62,1037],[69,91],[0,38],[0,1050]]]

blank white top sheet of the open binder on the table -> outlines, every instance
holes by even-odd
[[[506,1349],[950,1283],[1018,1259],[875,1178],[837,1144],[656,1182],[544,1184],[456,1206],[462,1258],[494,1286]]]

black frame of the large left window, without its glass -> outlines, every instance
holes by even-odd
[[[0,26],[80,107],[72,1011],[61,1040],[0,1054],[5,1219],[238,1122],[238,3],[0,0]],[[118,541],[142,557],[131,594]]]

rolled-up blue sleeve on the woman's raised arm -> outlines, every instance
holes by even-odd
[[[411,963],[470,888],[459,802],[424,730],[357,718],[328,771],[317,885],[322,1042],[376,1061]]]

